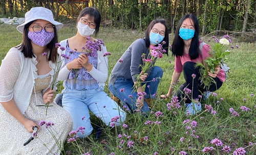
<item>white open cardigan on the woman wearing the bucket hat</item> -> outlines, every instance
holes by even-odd
[[[15,47],[8,51],[0,67],[0,102],[14,99],[20,112],[25,113],[34,88],[34,80],[37,79],[36,64],[36,57],[25,58],[24,54]],[[50,61],[49,65],[52,68],[51,82],[42,93],[50,88],[53,81],[55,64]],[[56,90],[56,85],[54,90]],[[2,104],[0,104],[0,112],[7,113]]]

